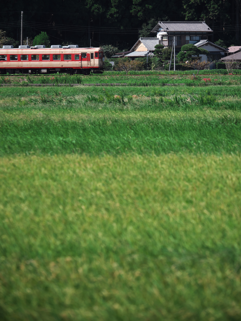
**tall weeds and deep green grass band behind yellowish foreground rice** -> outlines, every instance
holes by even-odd
[[[216,115],[207,114],[207,108]],[[103,91],[84,100],[45,94],[20,99],[14,109],[4,107],[8,112],[0,118],[0,154],[240,152],[240,109],[240,102],[220,103],[209,92],[166,97],[155,89],[149,97],[126,97]],[[65,113],[58,116],[61,110]]]

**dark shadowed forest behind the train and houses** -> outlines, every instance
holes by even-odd
[[[6,36],[32,39],[46,31],[51,44],[80,47],[112,45],[129,49],[158,20],[203,21],[214,30],[211,41],[241,44],[241,0],[6,0],[1,4],[0,29]]]

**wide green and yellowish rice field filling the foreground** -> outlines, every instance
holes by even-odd
[[[241,319],[228,81],[0,87],[1,320]]]

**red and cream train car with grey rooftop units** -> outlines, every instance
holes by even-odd
[[[7,47],[7,48],[6,48]],[[0,49],[0,74],[99,74],[103,72],[102,48],[78,46],[3,46]]]

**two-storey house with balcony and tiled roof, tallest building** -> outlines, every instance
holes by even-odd
[[[159,43],[165,47],[173,45],[175,36],[178,52],[185,44],[207,40],[213,30],[204,21],[159,21],[151,32],[156,33]]]

